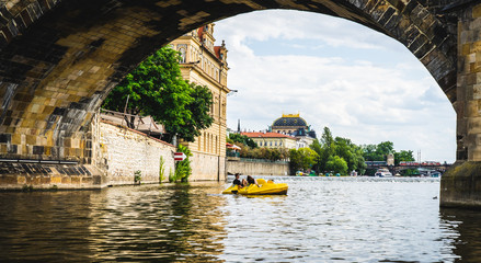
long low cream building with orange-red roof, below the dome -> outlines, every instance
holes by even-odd
[[[259,147],[296,149],[297,139],[280,133],[241,133],[251,138]]]

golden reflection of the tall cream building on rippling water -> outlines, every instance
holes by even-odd
[[[221,196],[176,184],[108,191],[92,204],[93,259],[209,262],[222,252]]]

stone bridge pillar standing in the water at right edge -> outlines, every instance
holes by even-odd
[[[457,155],[440,206],[481,208],[481,3],[458,11]]]

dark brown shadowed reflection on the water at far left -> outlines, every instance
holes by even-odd
[[[90,192],[0,196],[0,261],[89,261]]]

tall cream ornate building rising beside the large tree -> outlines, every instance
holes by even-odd
[[[181,141],[191,149],[193,157],[190,180],[224,180],[226,174],[226,104],[227,49],[214,46],[214,24],[191,31],[171,43],[181,53],[181,71],[185,80],[206,85],[213,93],[210,114],[213,125],[203,130],[194,142]]]

